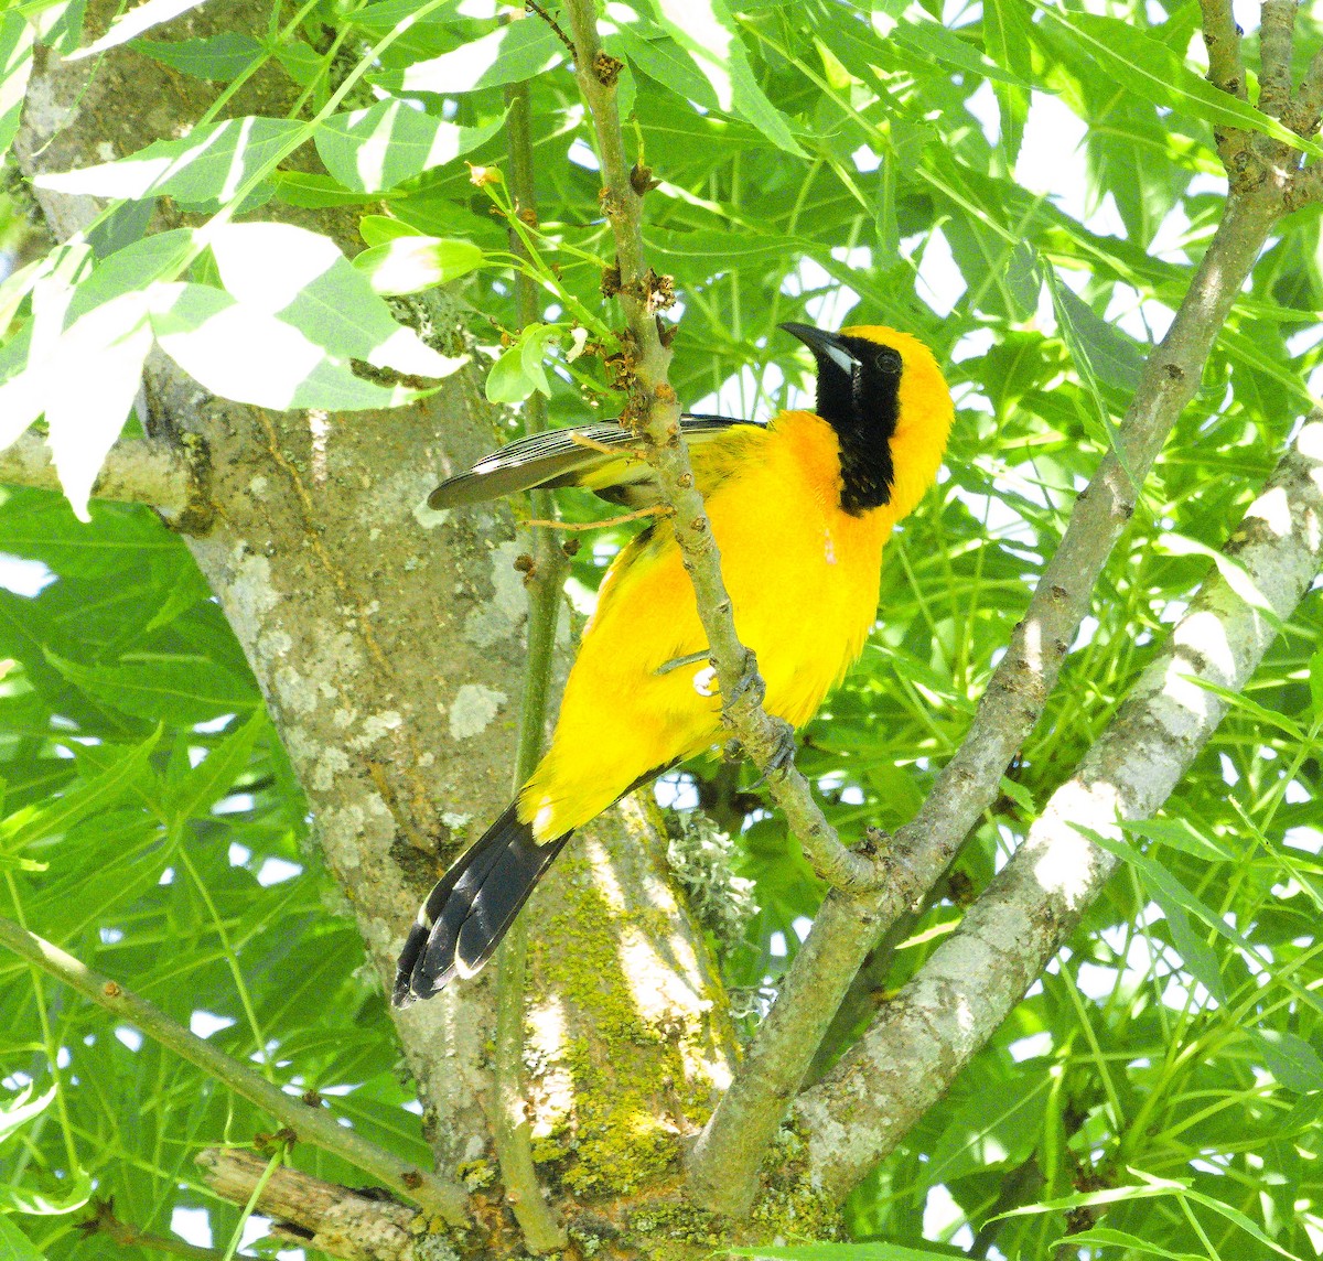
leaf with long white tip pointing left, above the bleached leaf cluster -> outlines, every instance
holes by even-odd
[[[38,175],[33,183],[57,193],[93,197],[136,201],[169,196],[185,206],[209,209],[279,161],[302,128],[298,119],[232,118],[194,127],[181,140],[156,140],[118,161]]]

